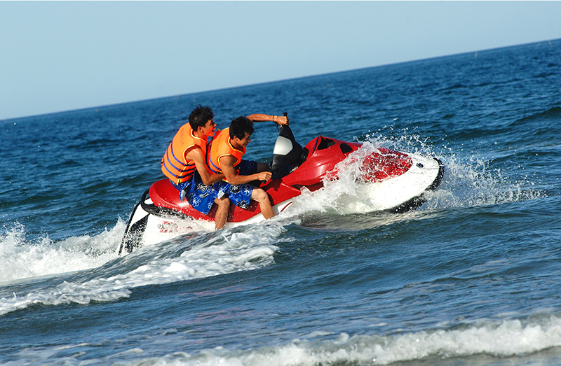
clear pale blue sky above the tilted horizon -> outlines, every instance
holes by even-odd
[[[0,119],[561,38],[561,1],[0,1]]]

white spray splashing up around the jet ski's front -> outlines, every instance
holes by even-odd
[[[532,189],[534,183],[527,177],[516,179],[506,175],[508,171],[490,169],[490,162],[476,155],[466,160],[452,153],[435,153],[434,148],[418,135],[400,134],[396,138],[367,135],[365,139],[363,146],[337,164],[339,179],[325,179],[324,188],[316,192],[310,192],[306,188],[302,190],[302,195],[296,197],[290,207],[292,215],[314,211],[336,215],[374,211],[372,204],[365,199],[364,188],[367,183],[360,181],[360,168],[365,157],[377,152],[378,148],[433,156],[443,162],[445,175],[442,183],[436,190],[424,193],[426,203],[421,206],[423,211],[504,204],[546,197],[545,193]]]

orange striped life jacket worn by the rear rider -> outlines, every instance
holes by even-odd
[[[191,125],[186,123],[177,131],[161,160],[163,174],[176,185],[189,181],[197,169],[195,162],[186,156],[193,146],[201,148],[206,155],[206,139],[195,136]]]

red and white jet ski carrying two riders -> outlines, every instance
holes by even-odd
[[[288,209],[304,189],[311,192],[324,187],[324,181],[339,179],[337,164],[357,159],[353,155],[362,143],[346,142],[318,136],[302,148],[288,125],[280,127],[269,165],[273,177],[268,182],[254,182],[271,199],[275,215]],[[402,213],[417,209],[425,202],[424,192],[435,190],[442,181],[444,165],[435,157],[401,153],[377,148],[360,157],[358,180],[363,183],[361,195],[367,196],[372,211]],[[180,200],[170,181],[161,179],[144,192],[135,206],[119,248],[130,253],[147,243],[196,231],[198,220],[214,221],[216,205],[207,215],[196,211],[187,199]],[[264,220],[259,204],[250,202],[248,209],[231,204],[227,227],[238,227]],[[213,225],[212,225],[213,226]]]

